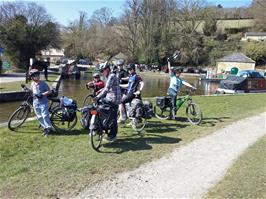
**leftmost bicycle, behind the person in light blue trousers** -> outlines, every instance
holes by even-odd
[[[20,104],[20,106],[17,108],[17,110],[14,111],[14,113],[10,116],[8,120],[8,128],[11,131],[15,131],[17,128],[24,124],[24,122],[29,117],[32,109],[33,96],[31,90],[24,84],[21,84],[21,88],[25,91],[24,98],[26,98],[26,100]],[[52,97],[48,97],[48,99],[51,101],[49,105],[49,112],[51,114],[50,120],[52,126],[57,132],[70,131],[76,125],[77,117],[75,117],[73,121],[65,123],[65,121],[63,120],[63,113],[65,112],[65,107],[60,107],[60,98],[55,96],[57,96],[57,91],[53,92]],[[54,103],[57,103],[57,105],[53,106]],[[65,124],[67,124],[67,127],[65,127]]]

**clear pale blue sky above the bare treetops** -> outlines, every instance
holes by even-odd
[[[6,0],[0,0],[6,1]],[[85,11],[88,17],[102,7],[110,8],[113,16],[120,16],[126,0],[32,0],[46,8],[54,20],[64,26],[79,18],[79,11]],[[249,6],[252,0],[206,0],[211,5],[221,4],[223,7]]]

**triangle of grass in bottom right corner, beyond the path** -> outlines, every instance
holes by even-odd
[[[266,136],[248,148],[205,198],[266,198],[265,144]]]

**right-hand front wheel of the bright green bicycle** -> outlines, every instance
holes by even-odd
[[[188,104],[186,108],[186,114],[189,122],[195,125],[200,124],[202,120],[202,112],[197,104]]]

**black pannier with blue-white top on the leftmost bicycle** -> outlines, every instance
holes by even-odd
[[[60,106],[64,108],[62,120],[72,122],[76,117],[77,102],[67,97],[61,97]]]

